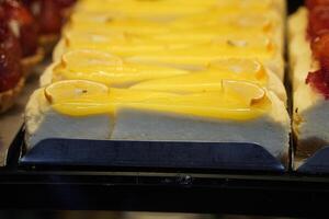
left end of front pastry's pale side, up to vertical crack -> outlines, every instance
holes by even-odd
[[[73,117],[57,113],[42,89],[32,94],[25,110],[27,149],[48,138],[105,140],[110,138],[112,126],[111,115]]]

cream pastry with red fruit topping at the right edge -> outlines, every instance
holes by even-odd
[[[325,1],[324,1],[325,2]],[[321,3],[321,2],[318,2]],[[328,8],[310,11],[300,8],[290,19],[291,78],[294,88],[294,134],[297,140],[297,155],[308,158],[318,149],[329,145],[328,101]],[[317,13],[327,16],[317,18]],[[313,18],[311,21],[308,19]],[[309,26],[309,24],[311,26]],[[324,34],[311,33],[322,28]]]

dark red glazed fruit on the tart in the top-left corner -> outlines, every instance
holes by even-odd
[[[1,4],[7,19],[20,39],[23,57],[33,56],[37,49],[38,28],[30,11],[14,0],[4,0]]]

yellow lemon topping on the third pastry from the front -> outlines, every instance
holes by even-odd
[[[231,39],[218,38],[208,43],[193,44],[189,41],[179,43],[161,43],[160,41],[127,41],[114,39],[113,43],[95,43],[71,41],[66,51],[75,49],[94,49],[106,51],[134,62],[171,64],[205,67],[212,61],[241,58],[271,60],[277,55],[275,44],[268,37]],[[206,42],[206,41],[205,41]]]

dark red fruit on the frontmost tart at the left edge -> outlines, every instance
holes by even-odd
[[[0,14],[4,14],[1,8]],[[0,92],[13,89],[20,81],[20,43],[7,25],[4,16],[0,15]]]

